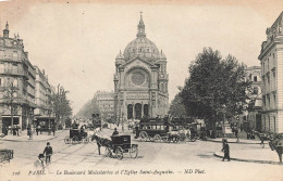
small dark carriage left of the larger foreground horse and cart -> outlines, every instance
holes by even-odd
[[[87,132],[82,129],[70,129],[70,134],[65,137],[64,142],[66,144],[76,144],[76,143],[88,143],[90,141],[90,137],[87,137]]]

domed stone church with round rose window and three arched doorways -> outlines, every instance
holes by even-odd
[[[136,38],[115,57],[113,80],[116,118],[140,119],[168,114],[167,56],[146,38],[142,14]]]

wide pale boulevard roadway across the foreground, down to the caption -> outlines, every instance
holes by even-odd
[[[121,128],[118,129],[122,134]],[[247,179],[257,177],[257,180],[270,180],[272,170],[274,178],[282,176],[281,165],[256,164],[245,161],[222,161],[222,158],[216,157],[214,152],[220,152],[222,143],[200,141],[186,143],[153,143],[140,142],[134,139],[133,130],[124,130],[123,134],[131,134],[132,144],[138,144],[137,158],[131,158],[130,154],[124,154],[124,158],[106,157],[104,147],[101,147],[101,155],[98,154],[96,141],[79,144],[65,144],[64,138],[69,135],[69,130],[57,132],[57,138],[50,140],[53,147],[51,164],[45,169],[45,176],[64,174],[67,179],[79,174],[98,174],[99,177],[112,174],[119,170],[123,176],[143,176],[143,174],[168,174],[198,179],[207,179],[207,177],[219,177],[221,172],[231,172],[235,178],[226,178],[229,180]],[[112,129],[103,129],[98,135],[109,138]],[[36,135],[35,135],[36,137]],[[34,167],[39,153],[42,153],[47,141],[33,142],[12,142],[1,141],[3,148],[14,150],[14,158],[11,163],[2,165],[2,171],[5,176],[13,177],[14,172],[20,171],[22,176],[37,176],[38,169]],[[258,144],[230,144],[231,155],[237,150],[261,151]],[[263,148],[270,150],[269,146]],[[271,151],[270,151],[271,152]],[[274,153],[275,155],[275,153]],[[275,155],[276,156],[276,155]],[[110,172],[109,172],[110,171]],[[112,171],[112,173],[111,173]],[[173,174],[170,172],[173,172]],[[239,172],[247,174],[238,174]],[[3,172],[1,172],[2,174]],[[231,176],[231,174],[230,174]],[[39,176],[37,176],[39,177]],[[269,178],[269,179],[268,179]],[[14,177],[16,179],[16,177]],[[107,179],[107,178],[103,178]],[[221,180],[221,179],[220,179]],[[223,177],[225,180],[225,177]]]

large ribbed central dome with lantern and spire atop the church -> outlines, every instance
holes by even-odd
[[[137,26],[136,37],[137,38],[131,41],[124,50],[125,61],[128,61],[135,56],[139,56],[148,61],[157,60],[160,57],[160,53],[156,44],[146,38],[145,24],[142,15],[139,24]]]

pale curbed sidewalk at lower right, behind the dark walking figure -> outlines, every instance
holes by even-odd
[[[216,157],[223,158],[223,152],[216,152]],[[259,164],[272,164],[282,165],[279,161],[279,156],[275,151],[271,151],[270,147],[253,148],[253,150],[236,150],[230,152],[231,160],[259,163]],[[226,160],[225,160],[226,161]]]

